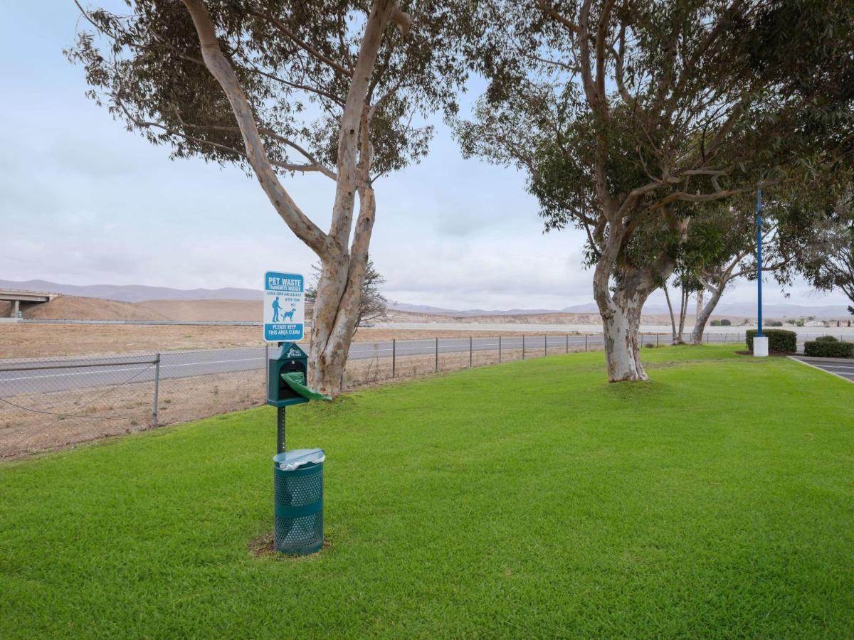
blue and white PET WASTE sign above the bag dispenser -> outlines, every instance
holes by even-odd
[[[264,340],[302,340],[306,326],[306,279],[300,273],[264,274]]]

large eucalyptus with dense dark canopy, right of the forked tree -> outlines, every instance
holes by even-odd
[[[645,380],[644,301],[692,205],[810,180],[851,150],[849,0],[471,0],[489,79],[465,154],[527,173],[594,267],[611,381]]]

